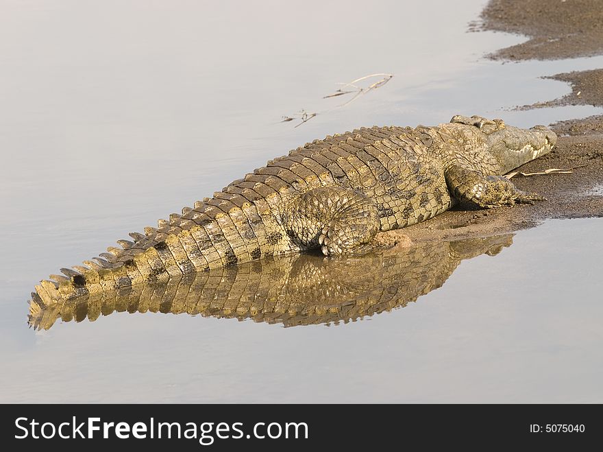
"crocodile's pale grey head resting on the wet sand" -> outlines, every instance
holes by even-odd
[[[472,126],[482,135],[484,145],[500,164],[501,174],[548,154],[557,141],[556,134],[545,126],[522,129],[506,126],[502,119],[461,115],[452,117],[450,122]]]

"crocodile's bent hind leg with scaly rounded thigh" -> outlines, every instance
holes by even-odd
[[[319,187],[298,195],[282,211],[288,235],[325,256],[361,250],[380,228],[377,202],[358,191]]]

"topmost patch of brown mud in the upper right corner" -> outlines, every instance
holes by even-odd
[[[557,60],[603,53],[600,0],[491,0],[481,19],[483,29],[528,36],[491,58]]]

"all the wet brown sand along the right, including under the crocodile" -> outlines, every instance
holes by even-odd
[[[482,29],[529,36],[525,43],[501,49],[489,58],[549,60],[603,53],[603,8],[599,0],[492,0],[482,12]],[[562,105],[603,106],[603,69],[554,75],[572,93],[524,108]],[[515,177],[519,189],[546,201],[498,209],[458,206],[428,222],[380,234],[383,245],[480,237],[536,226],[547,218],[603,217],[603,115],[551,125],[559,135],[554,150],[519,168],[539,172],[575,168],[571,174]]]

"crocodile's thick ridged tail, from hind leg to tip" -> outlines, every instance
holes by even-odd
[[[62,268],[62,274],[52,274],[36,285],[32,302],[49,307],[80,296],[252,261],[264,253],[286,249],[286,237],[265,234],[255,206],[225,210],[222,204],[226,201],[221,199],[225,196],[233,199],[233,195],[215,193],[213,199],[184,207],[182,215],[173,213],[169,219],[160,219],[157,228],[130,233],[132,240],[118,240],[119,248],[110,246],[82,265]]]

